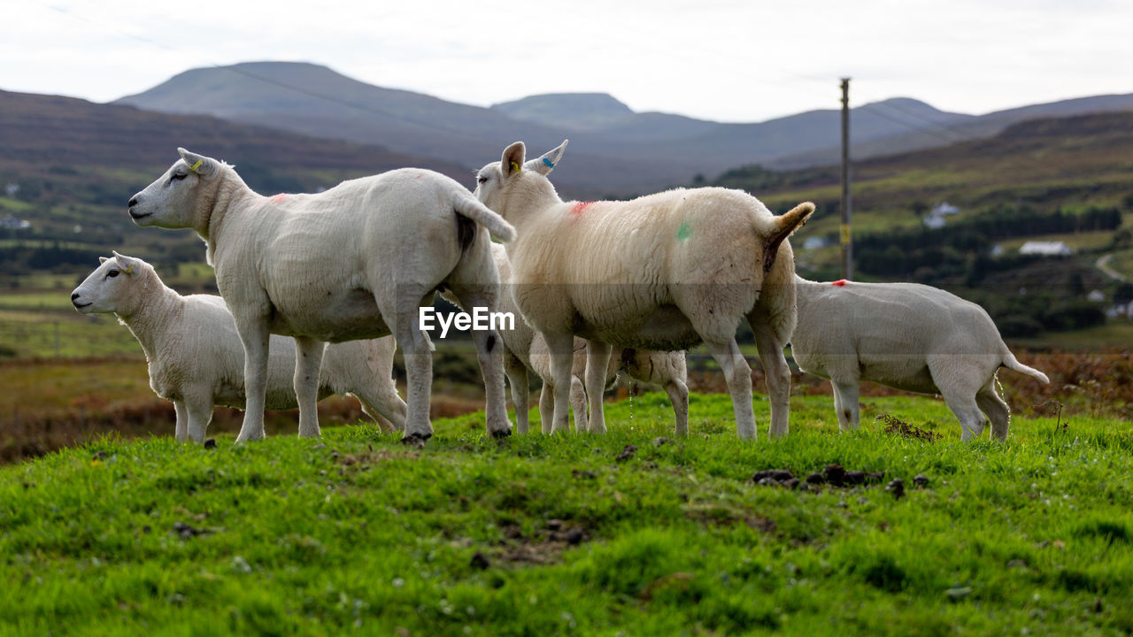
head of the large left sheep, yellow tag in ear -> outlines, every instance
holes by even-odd
[[[156,181],[134,195],[129,214],[138,226],[194,228],[207,219],[221,162],[178,148],[181,159]]]

